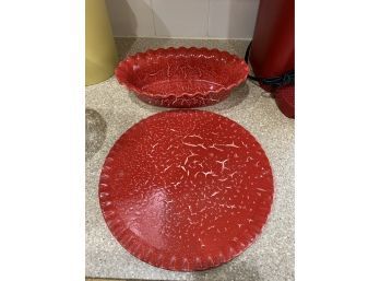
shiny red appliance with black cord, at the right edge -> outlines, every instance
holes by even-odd
[[[289,118],[295,118],[294,21],[294,0],[261,0],[253,38],[246,51],[246,61],[254,73],[248,78],[272,93]]]

